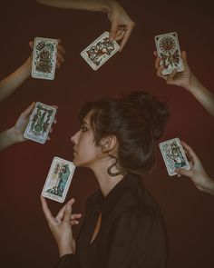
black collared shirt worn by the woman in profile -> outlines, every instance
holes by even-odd
[[[91,243],[99,213],[101,227]],[[166,259],[160,208],[141,178],[128,174],[106,197],[97,191],[88,198],[76,253],[61,257],[57,268],[163,268]]]

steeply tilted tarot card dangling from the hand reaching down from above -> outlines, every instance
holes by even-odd
[[[81,53],[83,59],[94,71],[99,69],[108,59],[120,49],[115,40],[109,41],[109,32],[104,32],[91,45],[87,46]]]

